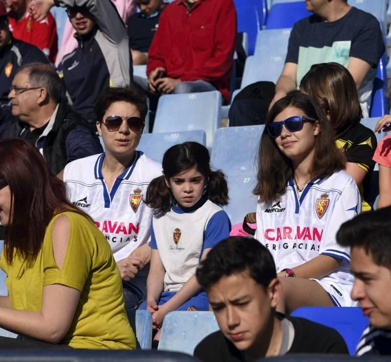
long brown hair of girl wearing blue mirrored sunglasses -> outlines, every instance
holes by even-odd
[[[308,170],[312,179],[325,177],[345,168],[345,157],[337,149],[335,133],[326,115],[309,95],[299,91],[289,93],[278,100],[267,115],[265,129],[261,136],[258,151],[258,182],[254,194],[260,196],[261,203],[280,199],[285,193],[287,182],[293,177],[291,160],[287,158],[267,133],[267,126],[287,107],[303,111],[303,115],[319,121],[320,133],[315,137],[315,154]]]

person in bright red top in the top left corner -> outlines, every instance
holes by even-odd
[[[31,19],[28,12],[31,1],[34,0],[6,0],[10,8],[9,28],[14,38],[38,46],[54,63],[58,47],[56,21],[50,13],[40,22]]]

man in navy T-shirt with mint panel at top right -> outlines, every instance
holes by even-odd
[[[368,117],[373,80],[385,51],[379,22],[369,13],[350,6],[348,0],[305,1],[305,6],[313,15],[293,26],[285,65],[269,109],[278,99],[297,89],[313,64],[336,62],[348,68],[363,114]],[[231,108],[230,122],[234,119],[237,126],[253,124],[246,114],[264,109],[254,99],[240,99]]]

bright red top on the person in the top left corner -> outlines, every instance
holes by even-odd
[[[12,13],[8,14],[9,28],[15,39],[38,46],[54,64],[57,55],[57,28],[52,14],[41,21],[32,20],[27,14],[19,22]]]

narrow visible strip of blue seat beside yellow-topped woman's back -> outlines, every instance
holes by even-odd
[[[152,314],[148,311],[136,310],[128,312],[130,327],[137,341],[137,348],[152,348]]]

